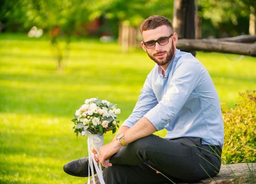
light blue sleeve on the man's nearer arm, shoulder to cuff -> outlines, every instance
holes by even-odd
[[[179,113],[201,80],[201,66],[191,60],[176,67],[162,100],[144,115],[157,130],[161,130]]]

